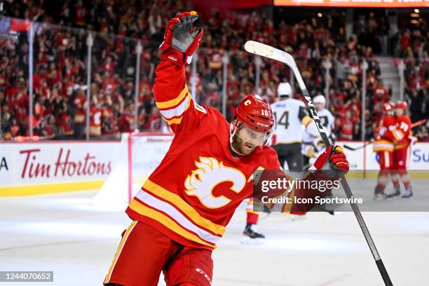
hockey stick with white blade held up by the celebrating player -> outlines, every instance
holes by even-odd
[[[304,80],[302,79],[301,74],[299,73],[297,63],[295,62],[292,55],[282,50],[278,50],[271,46],[265,45],[264,43],[258,43],[257,41],[247,41],[245,43],[245,50],[247,50],[247,52],[249,53],[254,53],[256,55],[268,57],[271,60],[277,60],[279,62],[287,64],[287,66],[289,66],[292,69],[292,71],[294,72],[295,79],[297,79],[297,82],[299,84],[299,88],[301,89],[301,92],[304,95],[306,106],[310,111],[311,117],[313,118],[320,132],[320,136],[322,137],[323,143],[325,144],[325,147],[329,147],[330,143],[326,135],[325,128],[323,128],[322,122],[320,121],[320,118],[313,105],[313,102],[311,101],[310,94],[308,93],[308,90],[304,84]],[[350,191],[350,186],[348,186],[346,178],[342,173],[339,174],[339,177],[340,177],[341,185],[343,186],[343,189],[346,192],[347,197],[353,198],[353,193]],[[379,255],[379,252],[376,249],[374,240],[372,240],[368,227],[365,224],[365,220],[363,219],[362,214],[360,213],[359,207],[357,207],[355,203],[350,203],[350,205],[353,209],[353,212],[355,213],[355,217],[357,219],[357,222],[359,223],[360,229],[362,230],[362,233],[365,236],[365,239],[367,240],[369,249],[372,252],[372,256],[375,259],[377,267],[379,268],[384,284],[386,286],[393,286],[392,281],[390,280],[390,277],[388,275],[388,272],[386,271],[386,267],[384,266],[383,261],[381,260],[381,257]]]

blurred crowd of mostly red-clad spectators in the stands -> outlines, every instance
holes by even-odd
[[[159,9],[161,2],[163,9]],[[9,17],[49,23],[34,26],[34,110],[31,118],[34,134],[45,138],[83,139],[88,88],[90,134],[93,137],[118,137],[121,132],[135,129],[163,130],[165,124],[152,93],[160,55],[158,46],[166,22],[176,11],[193,10],[192,4],[159,0],[144,1],[144,4],[125,0],[85,3],[64,0],[59,3],[60,12],[55,13],[46,8],[43,1],[13,2],[6,7]],[[374,136],[381,106],[391,96],[391,87],[383,86],[380,79],[380,67],[374,53],[374,50],[384,53],[387,49],[383,36],[379,36],[388,29],[386,22],[376,20],[374,15],[369,15],[369,19],[362,16],[357,21],[362,25],[355,24],[356,34],[348,41],[344,41],[343,29],[336,27],[341,25],[336,25],[329,17],[293,24],[282,20],[274,23],[260,10],[221,13],[212,9],[209,15],[203,15],[202,22],[205,34],[198,59],[194,59],[196,76],[191,77],[191,65],[186,67],[188,85],[196,83],[194,97],[200,104],[221,108],[225,54],[229,58],[226,75],[228,119],[233,116],[238,102],[249,93],[259,93],[270,102],[276,100],[278,83],[290,81],[290,71],[278,62],[264,59],[255,62],[254,57],[243,52],[243,43],[253,39],[292,53],[311,95],[323,93],[329,81],[329,109],[336,117],[337,137],[360,139],[361,62],[365,59],[369,64],[365,83],[365,133],[368,139]],[[0,120],[4,139],[29,134],[29,43],[28,31],[22,29],[22,25],[18,23],[18,32],[10,32],[8,36],[0,31]],[[398,41],[407,62],[407,95],[411,99],[413,121],[428,117],[424,104],[418,103],[418,100],[428,100],[428,37],[423,26],[418,29],[420,36],[416,30],[407,32],[404,29]],[[95,33],[92,79],[87,86],[86,39],[89,30]],[[409,39],[402,39],[407,33]],[[379,40],[379,46],[374,46],[374,39]],[[144,48],[137,86],[138,106],[135,107],[137,40]],[[328,77],[325,76],[326,62],[332,64]],[[260,64],[258,90],[257,64]],[[295,96],[300,98],[298,90]],[[429,109],[429,104],[425,106]],[[418,108],[421,114],[416,111]]]

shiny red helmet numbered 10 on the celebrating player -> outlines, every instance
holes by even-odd
[[[270,104],[259,95],[247,95],[238,104],[236,117],[241,123],[257,132],[271,133],[274,128]]]

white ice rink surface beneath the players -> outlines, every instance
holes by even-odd
[[[0,285],[102,285],[130,219],[122,211],[95,209],[94,195],[1,198],[1,271],[54,271],[54,282]],[[429,212],[363,216],[393,284],[428,285]],[[212,285],[383,285],[353,212],[293,217],[275,213],[261,218],[264,245],[242,245],[245,210],[238,210],[213,252]]]

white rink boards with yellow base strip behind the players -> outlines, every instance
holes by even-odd
[[[170,142],[139,142],[133,154],[135,177],[147,177],[163,158]],[[363,142],[338,142],[360,147]],[[376,176],[379,169],[372,145],[350,151],[345,149],[350,175]],[[119,141],[51,141],[0,143],[0,196],[27,196],[41,193],[100,189],[118,160],[128,154]],[[409,169],[429,170],[429,143],[418,142],[410,150]],[[137,167],[136,167],[137,166]],[[373,170],[373,171],[371,171]],[[411,173],[411,178],[429,177],[426,172]],[[413,177],[414,176],[414,177]]]

